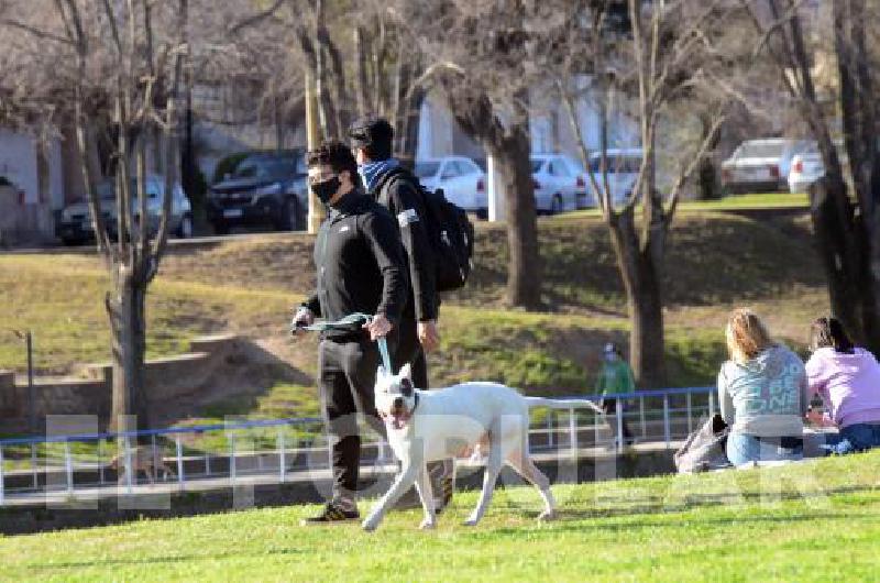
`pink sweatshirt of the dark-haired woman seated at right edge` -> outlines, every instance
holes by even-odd
[[[822,396],[838,427],[880,422],[880,364],[865,349],[816,350],[806,363],[810,396]]]

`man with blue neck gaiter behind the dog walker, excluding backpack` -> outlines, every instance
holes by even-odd
[[[418,178],[392,156],[394,129],[383,118],[366,117],[349,129],[364,190],[396,218],[409,274],[409,302],[398,329],[394,366],[409,363],[413,383],[428,388],[426,352],[440,343],[437,316],[440,305],[436,280],[436,251],[430,240],[427,201]],[[448,464],[447,464],[448,465]],[[438,508],[452,496],[451,475],[444,464],[429,468]],[[440,482],[438,484],[438,482]],[[438,491],[438,486],[440,490]]]

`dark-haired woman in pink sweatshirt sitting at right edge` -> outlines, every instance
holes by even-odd
[[[880,446],[880,364],[873,354],[856,346],[835,318],[818,318],[810,327],[806,362],[810,396],[818,394],[828,418],[811,413],[817,425],[839,428],[829,439],[831,453],[845,454]]]

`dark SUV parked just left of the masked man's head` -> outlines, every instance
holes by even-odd
[[[302,151],[250,154],[211,187],[208,220],[218,234],[239,224],[304,229],[308,213],[306,175]]]

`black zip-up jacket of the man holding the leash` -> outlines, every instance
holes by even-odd
[[[395,327],[406,304],[407,280],[394,218],[355,189],[330,208],[315,241],[316,293],[302,304],[336,321],[350,314],[384,314]],[[328,338],[356,338],[360,324]]]

